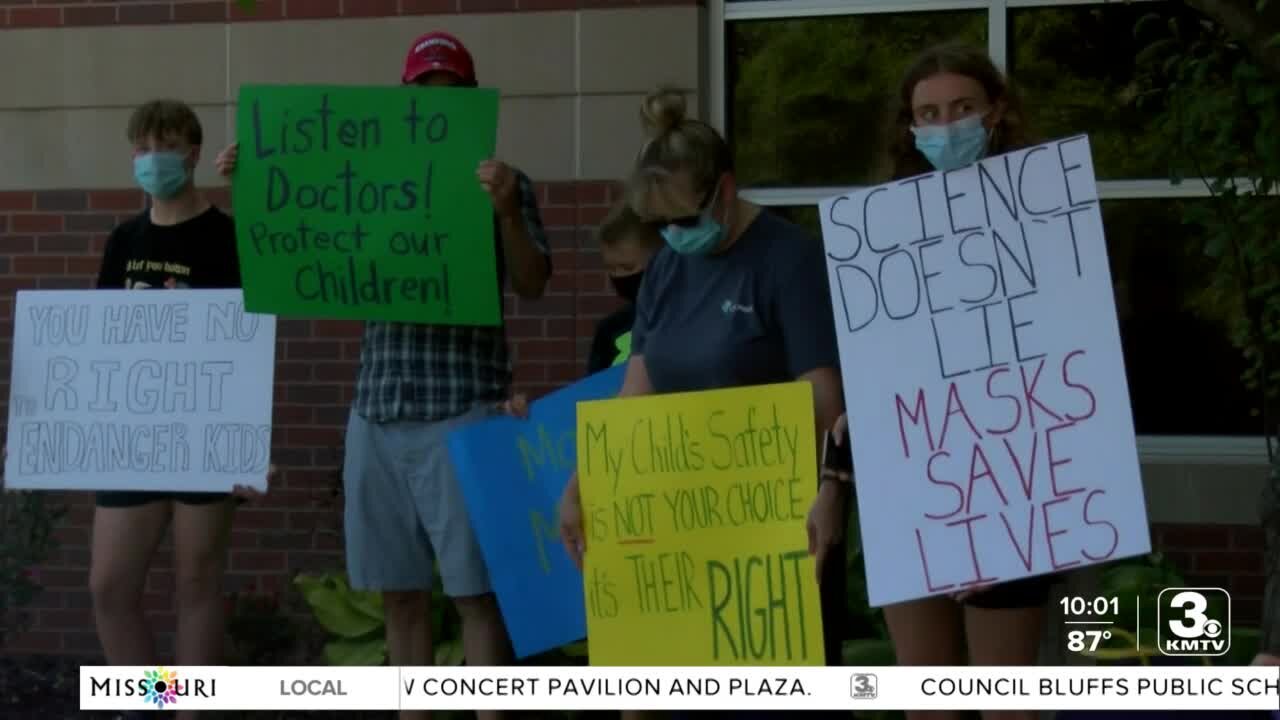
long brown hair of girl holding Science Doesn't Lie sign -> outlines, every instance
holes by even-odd
[[[886,165],[891,179],[933,172],[933,165],[915,149],[911,135],[911,95],[915,86],[940,73],[954,73],[973,78],[982,85],[987,99],[995,104],[1004,101],[1005,113],[1000,124],[992,128],[991,155],[1000,155],[1034,145],[1028,136],[1027,117],[1021,100],[1009,78],[991,61],[984,50],[960,42],[946,42],[929,47],[908,67],[899,88],[897,104],[888,127],[888,156]]]

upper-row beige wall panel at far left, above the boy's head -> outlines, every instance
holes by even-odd
[[[220,102],[225,33],[220,24],[5,31],[0,109]]]

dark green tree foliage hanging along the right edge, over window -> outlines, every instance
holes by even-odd
[[[1280,380],[1280,81],[1265,73],[1222,28],[1151,14],[1162,32],[1143,51],[1139,104],[1153,113],[1175,182],[1202,183],[1212,202],[1183,206],[1183,223],[1215,260],[1196,299],[1222,319],[1248,363],[1258,429],[1277,436]]]

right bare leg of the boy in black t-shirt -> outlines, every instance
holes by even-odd
[[[173,505],[174,577],[178,605],[178,665],[223,665],[227,611],[223,575],[236,506],[228,498],[207,505]],[[178,717],[195,720],[195,711]]]

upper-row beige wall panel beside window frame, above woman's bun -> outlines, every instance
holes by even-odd
[[[584,94],[648,92],[660,83],[699,90],[705,37],[700,8],[582,13]]]

